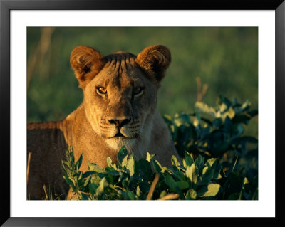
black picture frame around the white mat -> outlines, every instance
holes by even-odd
[[[11,10],[274,10],[276,16],[276,75],[275,75],[275,127],[276,127],[276,217],[275,218],[11,218],[10,216],[10,12]],[[0,144],[1,144],[1,220],[3,226],[176,226],[182,223],[197,226],[285,226],[284,127],[285,97],[285,2],[284,0],[202,0],[202,1],[116,1],[116,0],[0,0]],[[273,101],[273,100],[272,100]],[[270,132],[269,132],[270,133]],[[274,144],[272,144],[274,146]],[[4,162],[2,162],[4,160]],[[181,223],[182,221],[182,223]]]

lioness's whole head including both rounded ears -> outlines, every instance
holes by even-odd
[[[164,46],[145,48],[138,57],[118,52],[103,58],[86,46],[73,50],[71,65],[83,88],[86,117],[110,147],[130,148],[150,133],[157,88],[169,63]]]

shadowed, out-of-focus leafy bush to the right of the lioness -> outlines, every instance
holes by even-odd
[[[249,120],[257,115],[257,110],[249,111],[249,101],[241,105],[237,100],[230,102],[220,96],[217,102],[216,108],[196,102],[197,111],[192,115],[165,116],[180,155],[185,150],[213,157],[222,157],[229,150],[243,157],[248,152],[257,154],[257,148],[247,149],[247,144],[257,144],[257,139],[243,136],[244,125],[248,125]],[[200,116],[199,112],[206,113],[212,120]]]

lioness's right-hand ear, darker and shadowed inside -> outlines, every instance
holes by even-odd
[[[165,77],[165,70],[171,62],[170,50],[162,45],[149,46],[138,54],[135,61],[151,79],[155,79],[159,84]]]

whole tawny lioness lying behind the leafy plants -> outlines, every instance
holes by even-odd
[[[66,194],[61,160],[68,146],[75,159],[83,153],[81,171],[88,171],[88,161],[101,167],[107,157],[116,162],[123,145],[135,158],[150,152],[170,166],[172,154],[178,155],[157,111],[157,89],[170,61],[170,51],[161,45],[138,56],[120,51],[103,57],[87,46],[74,48],[70,62],[84,99],[61,121],[28,123],[28,196],[43,198],[44,184]]]

